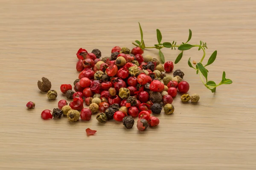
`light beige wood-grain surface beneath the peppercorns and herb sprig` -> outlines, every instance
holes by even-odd
[[[0,169],[1,170],[255,170],[256,169],[256,1],[255,0],[0,0]],[[61,84],[78,77],[76,52],[99,48],[110,56],[113,46],[132,48],[140,39],[207,42],[209,79],[222,71],[233,80],[212,94],[187,60],[198,61],[192,49],[175,65],[190,83],[198,105],[182,104],[162,113],[160,125],[139,132],[121,123],[70,124],[66,118],[44,121],[44,109],[56,108]],[[178,50],[164,49],[174,61]],[[145,51],[156,57],[157,51]],[[48,77],[58,91],[55,101],[41,93],[37,81]],[[33,101],[36,108],[26,109]],[[97,130],[87,137],[85,129]]]

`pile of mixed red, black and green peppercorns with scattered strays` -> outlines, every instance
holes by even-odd
[[[41,113],[43,119],[61,118],[67,116],[70,122],[82,120],[89,121],[93,113],[97,113],[96,119],[105,123],[110,119],[122,122],[126,128],[132,128],[134,118],[138,117],[138,130],[145,130],[159,124],[159,119],[153,114],[160,114],[162,105],[164,112],[172,114],[174,106],[173,97],[177,91],[183,93],[182,102],[198,102],[199,96],[189,96],[189,83],[182,81],[184,73],[176,70],[171,76],[166,73],[172,72],[173,62],[168,61],[164,65],[149,55],[142,56],[143,50],[139,47],[112,48],[111,57],[102,57],[99,49],[91,53],[80,48],[77,52],[79,61],[76,70],[80,72],[78,79],[72,85],[60,86],[62,93],[68,99],[73,99],[68,105],[62,99],[58,102],[58,108],[44,110]],[[101,58],[101,59],[100,59]],[[165,72],[164,72],[165,71]],[[51,82],[43,77],[38,81],[38,88],[47,92],[49,99],[58,96],[55,90],[51,90]],[[88,105],[89,108],[84,108]],[[35,103],[29,102],[28,108],[35,107]],[[80,112],[79,112],[80,111]]]

